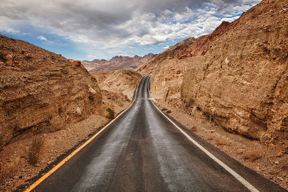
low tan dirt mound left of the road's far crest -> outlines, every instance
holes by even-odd
[[[97,82],[103,90],[120,90],[127,95],[130,100],[133,98],[134,90],[137,87],[142,75],[129,70],[92,72],[91,75],[97,79]]]

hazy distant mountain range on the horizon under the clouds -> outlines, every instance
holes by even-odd
[[[93,61],[84,60],[81,61],[81,63],[89,72],[113,71],[118,69],[134,70],[154,56],[155,54],[153,53],[149,53],[143,57],[138,55],[134,57],[115,56],[109,61],[105,59],[94,59]]]

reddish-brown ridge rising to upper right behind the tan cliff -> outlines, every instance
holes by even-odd
[[[231,23],[223,21],[221,25],[219,25],[212,33],[208,35],[203,35],[196,39],[194,37],[190,37],[175,44],[174,46],[170,46],[162,53],[156,55],[138,67],[136,71],[140,72],[141,74],[153,74],[156,65],[166,59],[183,59],[187,57],[204,55],[209,50],[210,44],[212,44],[226,32],[231,31],[244,23],[248,24],[257,16],[267,13],[277,7],[286,5],[287,3],[287,0],[263,0],[259,4],[244,12],[237,20]]]

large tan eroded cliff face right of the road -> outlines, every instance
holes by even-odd
[[[170,105],[200,110],[229,131],[267,145],[287,141],[287,3],[262,1],[255,6],[262,10],[251,9],[261,15],[249,14],[249,22],[215,39],[203,55],[154,63],[151,86]]]

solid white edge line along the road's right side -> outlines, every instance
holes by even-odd
[[[204,147],[202,147],[199,143],[197,143],[194,139],[192,139],[187,133],[185,133],[180,127],[178,127],[173,121],[170,120],[152,101],[151,95],[150,95],[150,79],[148,83],[148,93],[150,97],[150,101],[153,103],[153,105],[175,126],[177,129],[179,129],[192,143],[194,143],[197,147],[199,147],[204,153],[206,153],[209,157],[211,157],[214,161],[216,161],[221,167],[223,167],[226,171],[228,171],[231,175],[233,175],[238,181],[240,181],[245,187],[247,187],[252,192],[259,192],[255,187],[253,187],[248,181],[246,181],[243,177],[241,177],[238,173],[233,171],[230,167],[228,167],[225,163],[217,159],[214,155],[212,155],[208,150],[206,150]]]

